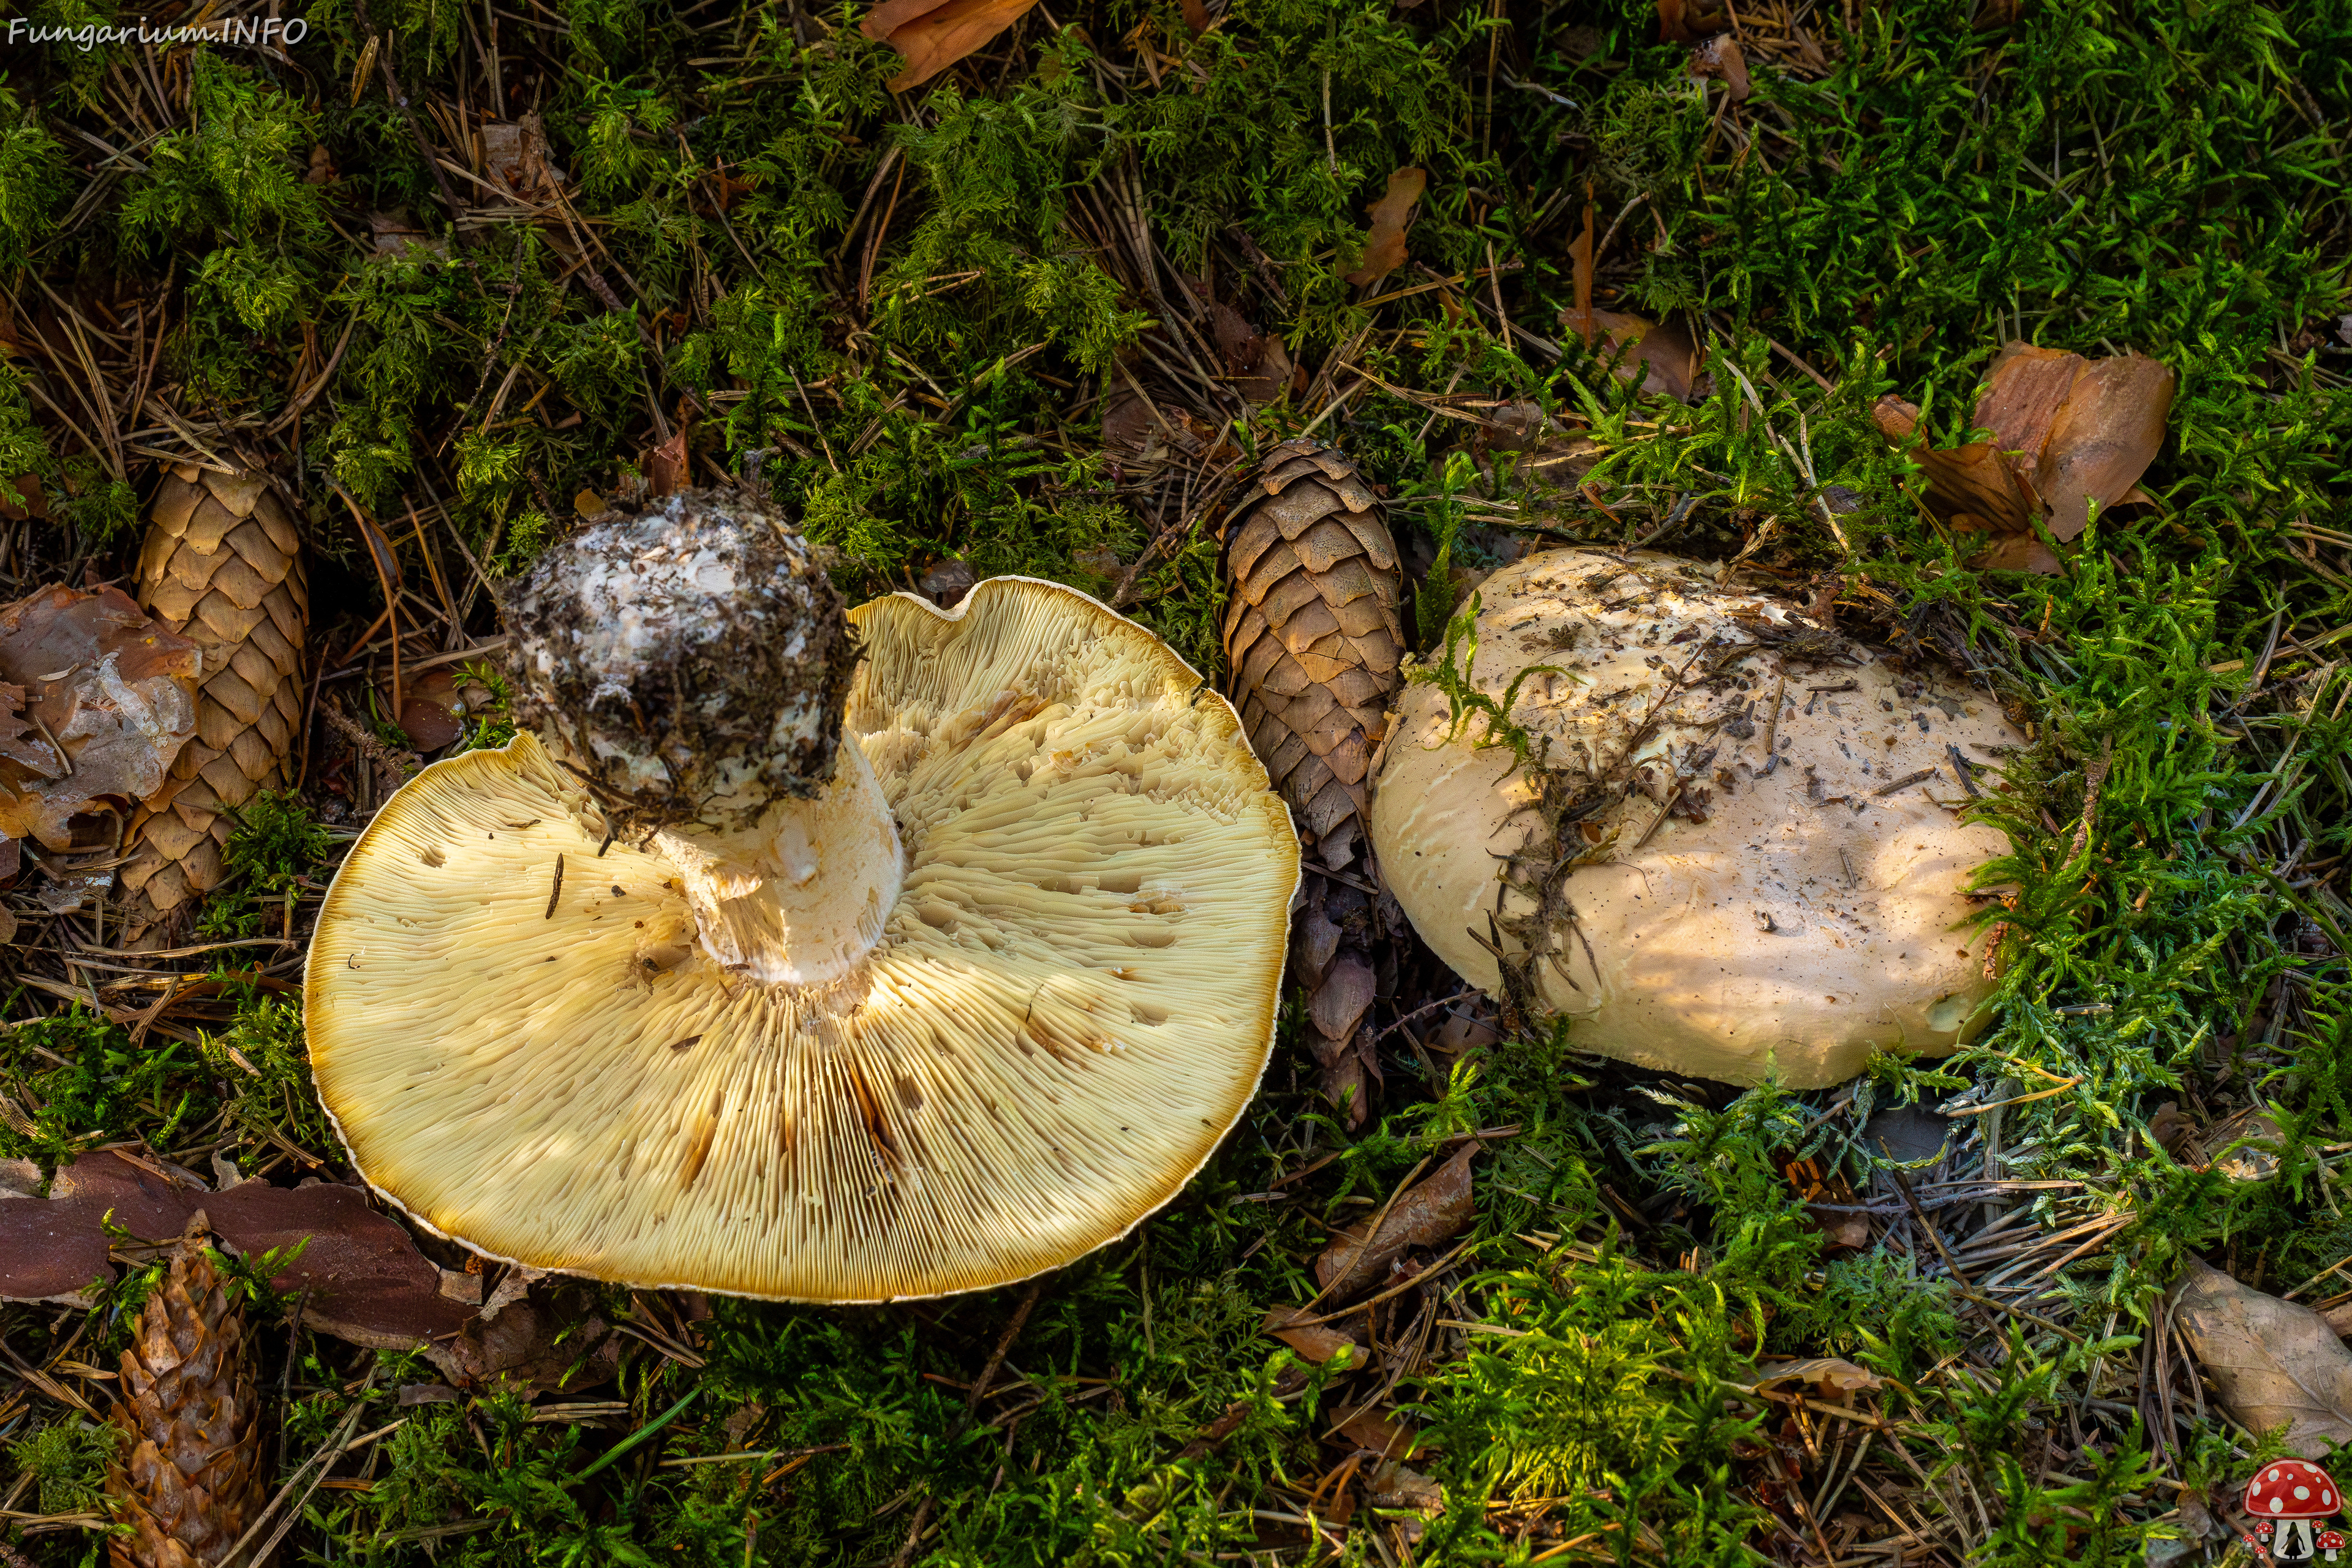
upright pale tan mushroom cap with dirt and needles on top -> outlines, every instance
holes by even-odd
[[[1837,1084],[1973,1027],[1992,980],[1955,926],[2006,837],[1957,809],[2023,743],[1987,696],[1599,550],[1486,578],[1470,679],[1515,693],[1531,766],[1416,684],[1371,804],[1388,886],[1456,973],[1588,1051],[1733,1084]]]

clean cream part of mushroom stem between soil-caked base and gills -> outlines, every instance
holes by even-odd
[[[703,950],[769,985],[849,973],[882,940],[906,879],[898,825],[849,736],[816,799],[776,799],[748,832],[663,827],[654,849],[680,872]]]

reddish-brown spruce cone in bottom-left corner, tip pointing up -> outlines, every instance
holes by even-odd
[[[261,1512],[261,1403],[245,1319],[205,1253],[202,1213],[122,1352],[113,1425],[122,1443],[106,1490],[132,1526],[108,1542],[115,1568],[216,1563]]]

